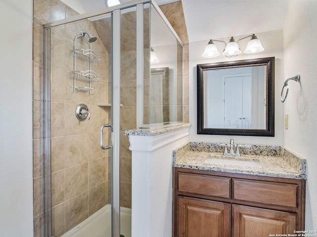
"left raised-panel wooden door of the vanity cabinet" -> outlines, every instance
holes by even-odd
[[[178,237],[229,237],[231,205],[178,197]]]

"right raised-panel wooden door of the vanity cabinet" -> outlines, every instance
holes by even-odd
[[[296,214],[248,206],[232,205],[233,237],[269,237],[293,234]]]

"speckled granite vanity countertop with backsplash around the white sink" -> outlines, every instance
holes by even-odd
[[[247,167],[205,163],[206,158],[223,154],[224,148],[218,143],[188,142],[173,151],[173,167],[213,170],[240,174],[306,179],[306,159],[293,154],[284,147],[247,145],[240,149],[239,159],[260,162],[262,167]]]

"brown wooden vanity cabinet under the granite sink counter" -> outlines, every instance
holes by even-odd
[[[173,168],[174,237],[305,230],[305,180]]]

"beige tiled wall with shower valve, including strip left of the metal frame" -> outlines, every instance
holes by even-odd
[[[47,11],[46,9],[52,11]],[[48,14],[45,14],[48,12]],[[55,14],[52,14],[52,13]],[[51,16],[52,14],[52,16]],[[53,16],[77,14],[60,1],[34,1],[34,219],[35,236],[44,236],[44,72],[42,24]],[[64,17],[62,17],[64,16]],[[100,40],[92,43],[101,62],[92,64],[99,82],[92,82],[94,95],[73,92],[73,39],[85,30],[98,37],[90,21],[52,29],[52,232],[61,236],[108,203],[108,151],[100,149],[100,126],[108,122],[108,53]],[[88,48],[83,38],[79,48]],[[77,59],[77,70],[86,71],[89,63]],[[77,80],[78,86],[89,86]],[[88,105],[90,120],[75,117],[78,104]],[[106,129],[105,129],[106,130]],[[107,133],[105,132],[105,144]]]

